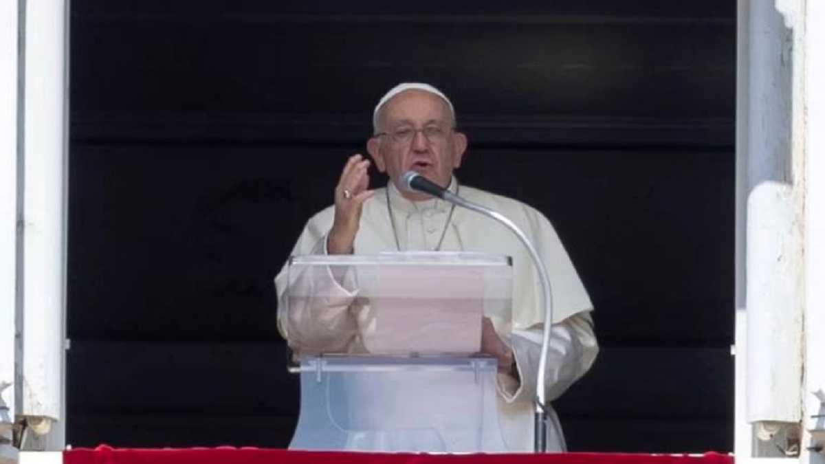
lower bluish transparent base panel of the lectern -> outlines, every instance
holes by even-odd
[[[503,452],[489,357],[304,357],[290,449]]]

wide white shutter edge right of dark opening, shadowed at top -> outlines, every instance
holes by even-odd
[[[804,8],[738,5],[736,449],[784,457],[767,438],[802,413]]]

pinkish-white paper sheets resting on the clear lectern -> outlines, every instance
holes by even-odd
[[[483,271],[475,267],[380,269],[361,337],[370,353],[461,354],[481,349]]]

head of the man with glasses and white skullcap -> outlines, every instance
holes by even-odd
[[[440,97],[422,90],[408,90],[392,97],[380,113],[380,135],[367,142],[375,166],[392,182],[406,171],[421,173],[442,187],[450,184],[453,170],[461,165],[467,138],[453,130],[454,118]],[[398,190],[413,200],[426,198]]]

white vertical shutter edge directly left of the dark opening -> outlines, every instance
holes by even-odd
[[[52,421],[64,443],[66,2],[27,0],[23,177],[23,385],[20,414]],[[52,445],[54,447],[54,444]]]

